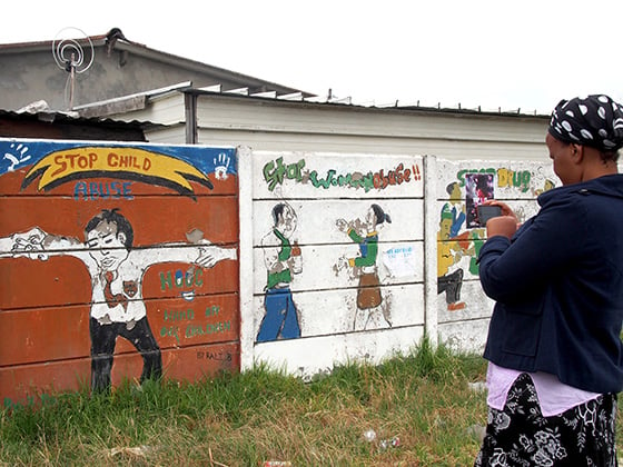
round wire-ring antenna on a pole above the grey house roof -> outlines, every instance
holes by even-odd
[[[85,52],[82,46],[88,46],[87,52]],[[69,110],[71,110],[73,108],[76,73],[83,73],[93,63],[93,43],[82,30],[65,28],[57,33],[52,41],[52,57],[58,67],[69,73],[65,87],[65,98],[66,101],[69,100]]]

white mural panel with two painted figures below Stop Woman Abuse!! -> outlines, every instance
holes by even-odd
[[[422,157],[254,152],[251,172],[255,359],[307,372],[379,358],[388,342],[405,350],[400,336],[415,345],[425,316]],[[309,351],[319,337],[325,348]]]

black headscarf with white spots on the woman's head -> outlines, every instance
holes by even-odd
[[[623,106],[607,96],[561,100],[552,112],[550,135],[604,152],[623,147]]]

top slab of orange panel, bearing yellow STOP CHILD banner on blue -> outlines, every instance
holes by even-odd
[[[0,160],[4,172],[0,178],[2,193],[19,190],[24,196],[46,196],[52,193],[51,186],[55,196],[92,201],[106,198],[128,199],[141,195],[237,196],[238,192],[237,178],[229,177],[236,173],[236,160],[231,149],[208,148],[205,156],[197,157],[196,152],[181,151],[179,146],[115,146],[109,142],[98,145],[80,141],[56,142],[56,146],[50,146],[51,141],[47,141],[48,146],[43,146],[39,141],[7,141],[8,145],[3,145],[3,148],[8,149],[4,153],[9,157]],[[119,148],[125,148],[123,163],[120,163],[121,158],[115,157],[119,156]],[[147,159],[156,160],[155,156],[164,161],[145,162]],[[136,163],[137,159],[141,159],[142,163]],[[141,170],[147,166],[149,170]],[[41,180],[33,172],[33,168],[39,173],[42,168],[50,168],[49,177]],[[187,173],[188,179],[199,181],[192,183],[191,191],[176,175],[180,172]],[[97,175],[109,177],[103,179]],[[78,181],[62,183],[63,177],[73,177]],[[145,182],[139,185],[136,180]]]

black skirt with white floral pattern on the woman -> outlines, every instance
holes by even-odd
[[[503,410],[488,409],[481,466],[613,466],[616,395],[607,394],[544,417],[532,378],[513,382]]]

